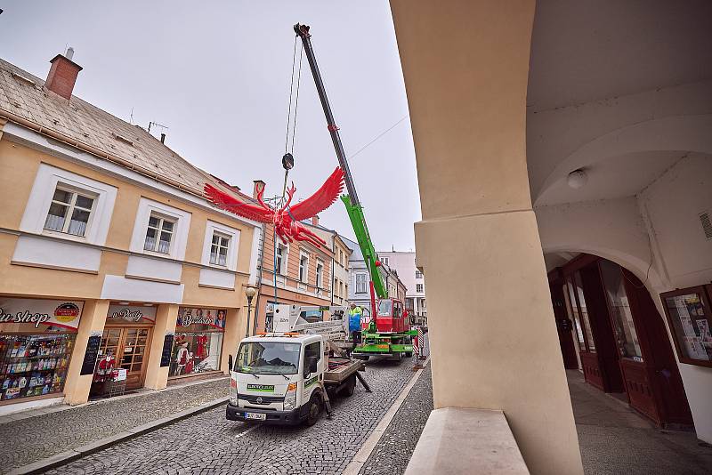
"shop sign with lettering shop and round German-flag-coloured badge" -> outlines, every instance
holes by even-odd
[[[76,330],[84,302],[0,297],[0,328],[4,325],[40,325]]]

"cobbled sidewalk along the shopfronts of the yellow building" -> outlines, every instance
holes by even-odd
[[[0,424],[0,471],[36,462],[93,440],[227,396],[221,378],[138,396],[106,399],[82,407]]]

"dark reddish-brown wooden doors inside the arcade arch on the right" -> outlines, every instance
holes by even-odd
[[[665,324],[643,282],[616,262],[579,254],[550,271],[549,283],[564,366],[576,364],[587,383],[659,427],[692,427]]]

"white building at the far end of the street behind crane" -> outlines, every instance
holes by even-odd
[[[426,325],[428,312],[425,302],[425,276],[416,267],[416,253],[391,251],[380,252],[378,256],[392,270],[396,270],[406,288],[403,302],[410,314],[410,322]]]

